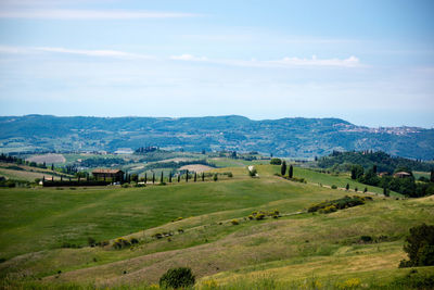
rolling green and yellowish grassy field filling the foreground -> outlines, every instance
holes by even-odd
[[[294,176],[308,180],[302,184],[275,176],[279,166],[256,167],[259,178],[248,177],[241,166],[214,169],[233,173],[233,178],[216,182],[0,189],[0,257],[5,260],[0,263],[0,288],[139,287],[155,283],[174,266],[191,267],[197,289],[288,289],[303,283],[309,285],[304,289],[331,289],[352,279],[359,280],[357,287],[373,287],[409,272],[397,268],[406,256],[408,229],[434,220],[433,197],[378,196],[331,214],[306,213],[312,203],[354,194],[319,182],[345,186],[349,178],[295,168]],[[279,210],[282,217],[246,218],[258,210]],[[173,222],[178,217],[182,219]],[[152,237],[169,231],[175,235]],[[361,242],[361,236],[374,242]],[[124,250],[91,248],[89,237],[111,242],[135,237],[140,242]],[[79,249],[62,248],[65,244]],[[270,283],[272,288],[259,287]]]

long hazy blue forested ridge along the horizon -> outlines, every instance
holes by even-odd
[[[187,151],[259,151],[314,157],[333,150],[374,150],[412,159],[434,159],[434,129],[369,128],[339,118],[253,121],[215,117],[0,117],[0,150],[114,151],[158,146]]]

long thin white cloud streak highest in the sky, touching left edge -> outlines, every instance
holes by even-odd
[[[52,20],[135,20],[179,18],[197,14],[180,12],[130,11],[130,10],[2,10],[0,18],[52,18]]]

